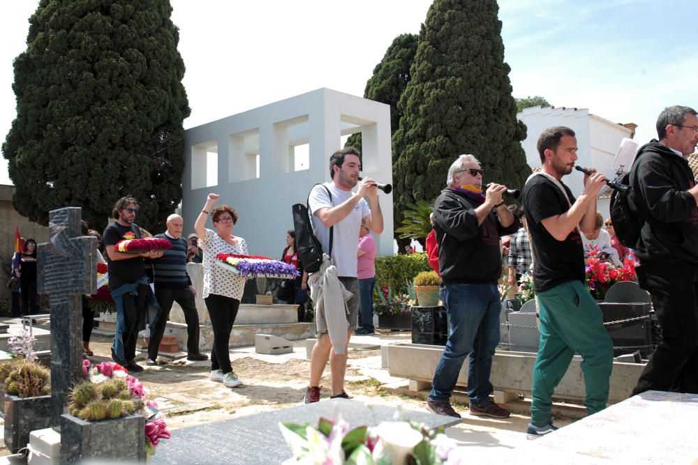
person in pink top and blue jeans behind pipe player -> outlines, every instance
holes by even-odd
[[[359,228],[357,251],[357,277],[359,278],[359,328],[357,334],[373,334],[373,288],[376,287],[376,241],[364,221]]]

